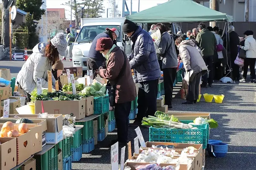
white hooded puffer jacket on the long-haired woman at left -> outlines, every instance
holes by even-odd
[[[22,66],[17,75],[17,80],[27,93],[36,88],[36,78],[41,78],[42,88],[48,88],[47,70],[52,72],[52,66],[48,58],[44,56],[46,43],[38,43],[33,48],[33,53]],[[52,75],[52,88],[55,86],[55,79]]]

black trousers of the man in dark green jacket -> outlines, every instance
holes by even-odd
[[[204,63],[208,67],[208,74],[204,74],[202,76],[203,79],[203,85],[212,84],[213,82],[213,61],[212,61],[213,56],[204,56]]]

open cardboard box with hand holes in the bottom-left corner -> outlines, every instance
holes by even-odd
[[[16,139],[0,137],[0,170],[12,169],[17,165]]]

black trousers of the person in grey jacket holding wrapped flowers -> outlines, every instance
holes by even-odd
[[[177,68],[164,68],[164,100],[166,105],[172,105],[173,83],[176,78]]]

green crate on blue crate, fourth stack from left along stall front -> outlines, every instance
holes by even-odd
[[[94,150],[93,120],[85,121],[83,122],[83,125],[84,127],[82,128],[82,145],[79,146],[79,149],[82,150],[82,153],[89,153],[90,151]]]

